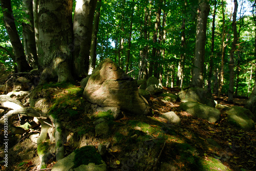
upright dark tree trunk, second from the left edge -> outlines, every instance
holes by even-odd
[[[28,64],[33,68],[38,67],[37,52],[35,43],[35,29],[34,29],[34,17],[33,17],[33,1],[23,0],[23,11],[26,14],[26,22],[23,23],[23,42],[26,60]],[[26,17],[28,16],[28,18]]]

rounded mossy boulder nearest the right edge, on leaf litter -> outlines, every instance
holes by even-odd
[[[248,109],[244,109],[238,106],[232,106],[231,109],[226,111],[226,114],[227,121],[232,126],[243,130],[255,129],[255,124],[254,121],[252,120],[254,116]]]

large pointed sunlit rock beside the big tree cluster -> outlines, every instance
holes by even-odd
[[[101,107],[117,107],[142,115],[150,112],[150,107],[139,96],[137,82],[108,58],[94,69],[83,96]]]

